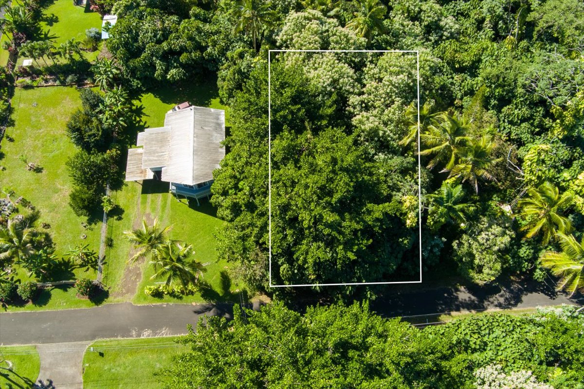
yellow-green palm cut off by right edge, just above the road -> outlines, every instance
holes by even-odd
[[[545,251],[540,257],[541,265],[561,277],[558,290],[565,289],[570,296],[576,290],[584,292],[584,238],[578,243],[573,235],[567,236],[559,232],[557,237],[562,252]]]

